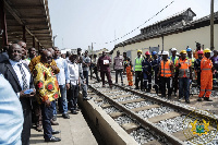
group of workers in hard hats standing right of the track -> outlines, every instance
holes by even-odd
[[[177,96],[179,88],[179,101],[184,98],[186,104],[190,104],[190,87],[196,84],[199,90],[197,101],[202,99],[213,101],[209,97],[213,85],[217,85],[217,50],[214,50],[214,56],[210,57],[211,50],[208,48],[203,50],[201,44],[197,43],[195,51],[191,48],[180,53],[175,48],[171,48],[170,51],[171,56],[169,51],[152,51],[152,53],[146,51],[143,56],[142,50],[137,50],[133,64],[126,57],[126,52],[121,56],[118,50],[113,59],[116,83],[120,74],[121,85],[123,85],[122,72],[124,71],[129,86],[133,85],[133,74],[135,74],[135,89],[141,88],[143,92],[150,93],[154,88],[156,94],[161,94],[160,97],[171,99],[172,93]]]

